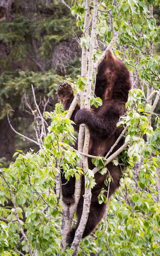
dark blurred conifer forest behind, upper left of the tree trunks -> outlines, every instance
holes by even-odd
[[[15,149],[35,145],[10,128],[33,138],[33,117],[26,112],[24,93],[32,104],[31,84],[37,102],[49,96],[47,111],[57,103],[57,86],[65,77],[80,73],[80,47],[74,40],[76,20],[60,1],[0,0],[0,159],[8,165]],[[77,32],[80,35],[80,32]],[[6,132],[7,131],[7,132]]]

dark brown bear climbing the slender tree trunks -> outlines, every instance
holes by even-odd
[[[96,85],[94,94],[102,99],[102,105],[98,108],[80,109],[77,105],[71,116],[74,121],[74,128],[79,130],[80,124],[86,124],[90,131],[89,154],[94,156],[106,156],[106,154],[114,145],[117,138],[123,131],[123,127],[117,128],[116,124],[126,113],[126,102],[128,100],[129,90],[131,89],[130,73],[123,61],[115,57],[111,50],[107,51],[106,58],[98,67]],[[60,101],[63,103],[65,111],[69,109],[71,102],[74,99],[73,90],[70,84],[64,82],[57,88],[57,93]],[[78,143],[78,141],[77,141]],[[77,143],[75,148],[77,149]],[[123,145],[123,138],[115,146],[114,153],[120,146]],[[112,154],[111,153],[111,154]],[[89,169],[95,166],[88,158]],[[112,176],[112,181],[109,188],[109,198],[120,186],[120,178],[122,175],[120,166],[115,166],[112,163],[107,165],[109,174]],[[91,206],[89,218],[83,233],[83,238],[88,236],[101,221],[106,211],[106,204],[99,204],[98,195],[102,188],[106,189],[107,196],[108,187],[104,184],[104,180],[108,176],[101,175],[97,172],[95,177],[96,185],[91,189]],[[64,175],[62,175],[62,183],[66,183]],[[74,203],[74,186],[75,178],[71,177],[69,182],[62,186],[63,201],[66,204]],[[77,224],[71,229],[67,236],[67,243],[71,244],[74,240],[74,234],[80,223],[80,218],[83,211],[83,195],[85,192],[84,175],[82,177],[81,197],[77,207]]]

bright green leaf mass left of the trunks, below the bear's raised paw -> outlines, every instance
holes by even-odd
[[[43,149],[38,154],[33,153],[33,150],[27,154],[17,151],[13,156],[17,157],[15,162],[8,169],[0,169],[1,255],[16,255],[15,247],[25,251],[26,255],[29,253],[15,215],[10,189],[17,205],[20,224],[31,244],[31,250],[35,248],[35,255],[63,255],[60,251],[62,208],[54,193],[55,175],[64,172],[69,180],[73,176],[79,179],[83,174],[77,167],[79,154],[69,146],[69,143],[74,143],[74,129],[71,125],[73,122],[66,118],[66,112],[57,104],[54,112],[46,113],[52,122]]]

